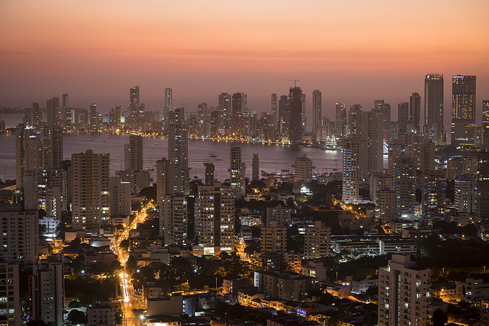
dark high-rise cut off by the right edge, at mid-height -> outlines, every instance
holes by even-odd
[[[477,153],[475,186],[475,215],[480,219],[487,219],[489,218],[489,152]]]

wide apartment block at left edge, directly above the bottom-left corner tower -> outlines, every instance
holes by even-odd
[[[38,262],[38,209],[24,209],[19,204],[0,204],[0,261],[13,264]],[[19,324],[16,324],[19,325]]]

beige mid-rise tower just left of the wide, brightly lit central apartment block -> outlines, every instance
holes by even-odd
[[[164,195],[159,202],[159,236],[165,245],[186,245],[187,235],[187,199]]]

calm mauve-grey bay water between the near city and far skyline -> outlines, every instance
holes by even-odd
[[[17,122],[9,121],[8,116],[18,116]],[[15,126],[22,122],[22,115],[2,115],[7,127]],[[6,179],[15,178],[15,136],[0,135],[2,144],[0,150],[0,172],[5,170]],[[71,159],[71,154],[85,152],[93,149],[95,153],[111,154],[111,174],[124,167],[124,143],[129,142],[129,135],[120,134],[64,134],[63,153],[64,159]],[[166,137],[144,137],[143,141],[144,167],[155,165],[156,160],[168,156],[168,139]],[[204,178],[204,162],[213,162],[216,165],[215,177],[219,181],[229,178],[229,150],[232,142],[212,141],[212,140],[193,140],[188,141],[189,166],[191,167],[190,176]],[[330,172],[332,169],[341,171],[341,151],[330,151],[319,148],[291,147],[281,144],[263,143],[237,143],[242,148],[243,161],[246,163],[246,176],[251,178],[251,161],[253,154],[258,153],[260,159],[260,170],[267,172],[281,172],[282,169],[293,168],[295,158],[306,154],[312,159],[315,172]],[[215,157],[211,157],[215,156]],[[155,177],[156,168],[150,171]],[[3,175],[0,175],[3,179]]]

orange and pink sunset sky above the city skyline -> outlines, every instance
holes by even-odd
[[[172,87],[187,110],[243,91],[261,112],[288,92],[279,79],[298,79],[308,111],[319,89],[333,118],[334,102],[396,111],[443,72],[449,121],[451,75],[477,75],[478,111],[489,99],[488,12],[488,0],[0,0],[0,104],[68,93],[107,112],[139,85],[147,110]]]

